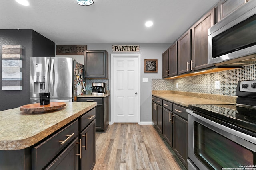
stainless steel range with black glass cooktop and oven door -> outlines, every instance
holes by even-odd
[[[189,170],[256,169],[256,80],[239,81],[236,104],[189,105]]]

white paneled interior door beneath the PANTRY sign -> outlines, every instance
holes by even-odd
[[[140,71],[138,54],[112,55],[111,102],[113,123],[140,121]]]

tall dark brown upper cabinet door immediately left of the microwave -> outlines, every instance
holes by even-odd
[[[192,70],[214,66],[208,64],[208,29],[214,25],[214,8],[198,20],[192,30]]]

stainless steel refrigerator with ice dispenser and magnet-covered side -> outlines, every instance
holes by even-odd
[[[38,103],[41,92],[50,92],[50,102],[72,102],[80,82],[83,65],[72,58],[30,58],[30,103]]]

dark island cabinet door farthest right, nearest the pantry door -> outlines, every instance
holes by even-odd
[[[95,119],[80,133],[80,139],[82,139],[81,170],[92,170],[96,162]]]

